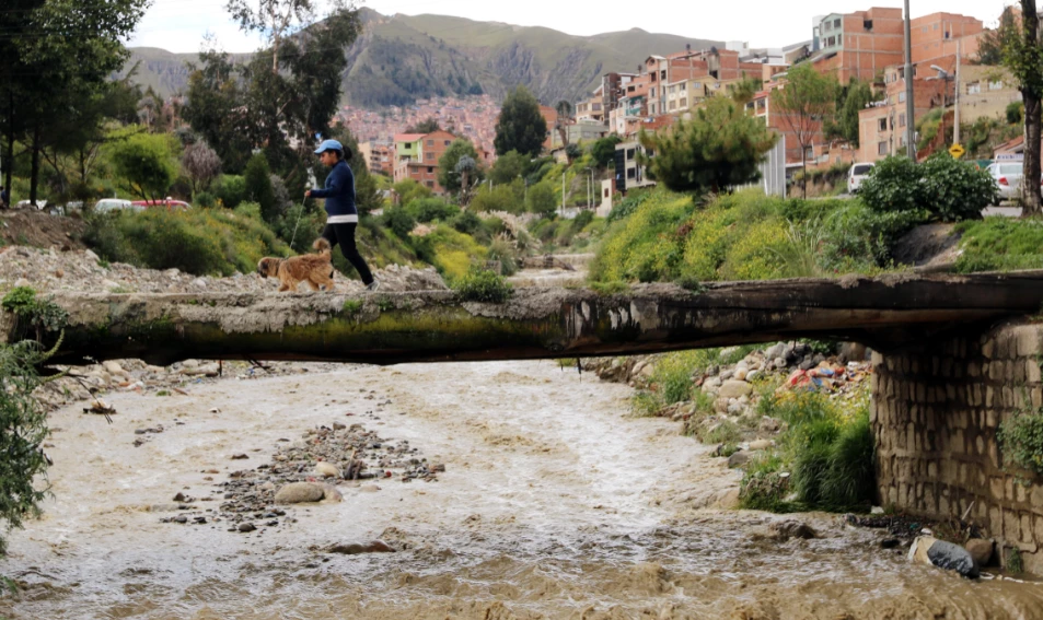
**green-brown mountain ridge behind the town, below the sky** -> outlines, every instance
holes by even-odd
[[[634,71],[649,55],[721,46],[720,42],[638,28],[589,37],[544,27],[475,22],[445,15],[385,16],[361,9],[362,36],[346,50],[345,103],[408,105],[417,98],[489,93],[524,84],[544,103],[586,96],[609,71]],[[162,94],[183,91],[192,54],[134,48],[136,80]],[[245,57],[245,55],[243,55]]]

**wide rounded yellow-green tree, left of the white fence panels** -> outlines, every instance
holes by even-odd
[[[673,191],[722,191],[760,176],[757,166],[777,137],[743,106],[712,97],[691,121],[679,120],[660,133],[641,132],[649,151],[640,160]]]

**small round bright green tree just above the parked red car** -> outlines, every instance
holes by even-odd
[[[160,200],[177,177],[167,136],[139,132],[117,142],[109,155],[126,188],[146,200]]]

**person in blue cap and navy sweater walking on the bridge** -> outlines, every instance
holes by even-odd
[[[355,206],[355,173],[347,162],[351,159],[351,151],[345,150],[336,140],[324,140],[315,150],[315,154],[324,166],[331,168],[329,176],[326,177],[326,186],[323,189],[309,189],[304,197],[326,200],[326,227],[323,229],[323,238],[329,242],[331,247],[339,245],[340,253],[359,272],[366,289],[375,291],[380,288],[380,281],[373,278],[355,245],[359,211]]]

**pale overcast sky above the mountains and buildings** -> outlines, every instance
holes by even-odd
[[[321,1],[321,0],[320,0]],[[939,11],[972,15],[995,25],[1011,0],[909,0],[914,17]],[[692,38],[745,40],[753,47],[780,47],[811,38],[815,15],[903,5],[902,0],[682,0],[680,2],[590,0],[367,0],[385,15],[433,13],[476,21],[546,26],[575,35],[625,31],[633,27]],[[629,10],[627,10],[629,9]],[[661,10],[659,10],[661,9]],[[131,46],[169,51],[199,51],[204,36],[217,37],[225,51],[253,51],[262,40],[245,35],[231,22],[223,0],[153,0]]]

